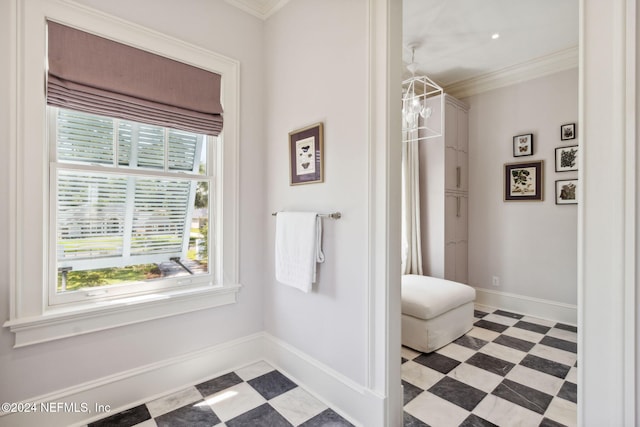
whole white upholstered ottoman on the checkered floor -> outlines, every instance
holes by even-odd
[[[402,276],[402,345],[429,353],[473,327],[470,286],[429,276]]]

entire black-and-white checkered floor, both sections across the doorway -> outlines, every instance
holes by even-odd
[[[402,348],[404,427],[575,426],[577,330],[476,310],[471,331],[429,354]],[[334,410],[266,362],[89,427],[341,427]]]

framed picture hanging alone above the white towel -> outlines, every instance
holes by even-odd
[[[289,132],[290,185],[324,181],[324,125]]]

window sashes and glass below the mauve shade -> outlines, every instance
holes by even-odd
[[[48,109],[50,305],[211,283],[213,137]]]

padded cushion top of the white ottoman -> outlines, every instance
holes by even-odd
[[[471,286],[429,276],[402,276],[402,313],[419,319],[433,319],[471,302],[476,291]]]

